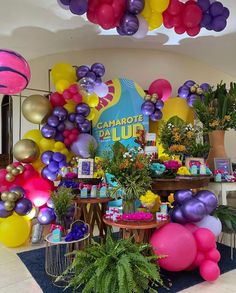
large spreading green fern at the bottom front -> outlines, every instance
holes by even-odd
[[[135,244],[132,239],[114,241],[108,233],[105,243],[92,244],[73,253],[72,264],[60,279],[70,279],[67,288],[82,293],[158,292],[163,285],[157,256],[149,244]],[[153,285],[153,286],[152,286]],[[155,288],[154,288],[155,286]]]

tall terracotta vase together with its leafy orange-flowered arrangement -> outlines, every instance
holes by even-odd
[[[236,83],[220,82],[210,87],[203,99],[198,99],[193,108],[202,122],[204,132],[209,134],[210,152],[207,163],[214,169],[215,157],[227,157],[224,147],[225,130],[236,129]]]

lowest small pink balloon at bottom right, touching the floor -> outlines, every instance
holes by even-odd
[[[214,282],[220,276],[220,268],[215,262],[204,260],[200,265],[200,275],[204,280]]]

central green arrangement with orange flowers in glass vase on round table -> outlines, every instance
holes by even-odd
[[[112,174],[111,195],[119,193],[123,199],[123,212],[135,210],[135,200],[150,188],[150,159],[141,148],[129,150],[116,142],[105,154],[103,169]]]

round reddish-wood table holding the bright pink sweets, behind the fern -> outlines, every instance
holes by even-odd
[[[150,222],[128,222],[118,220],[117,222],[113,222],[112,220],[103,217],[103,222],[108,226],[122,229],[124,239],[134,237],[136,243],[143,243],[149,242],[149,238],[154,229],[162,227],[169,221],[158,222],[156,220],[152,220]]]

